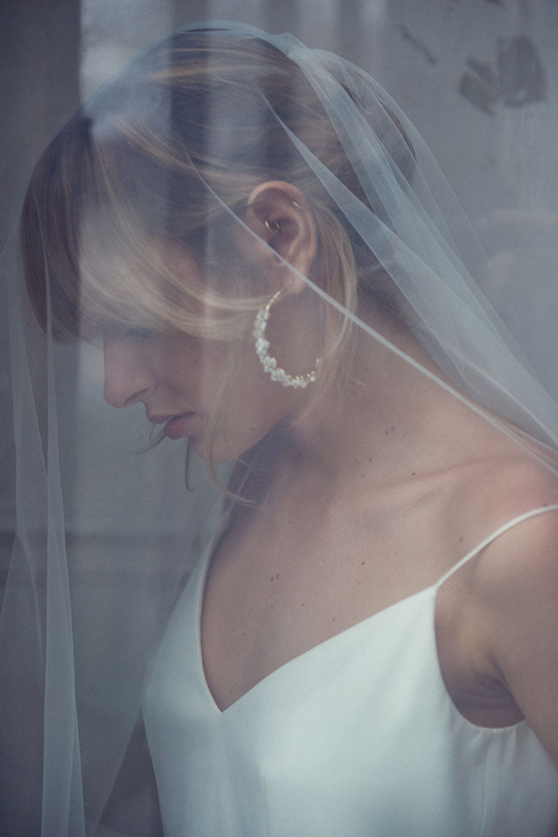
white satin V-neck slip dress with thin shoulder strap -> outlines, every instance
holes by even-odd
[[[478,727],[438,663],[443,582],[290,660],[220,711],[202,665],[211,547],[171,616],[144,715],[166,837],[550,837],[558,768],[525,721]]]

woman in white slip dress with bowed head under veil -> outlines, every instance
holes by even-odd
[[[106,401],[225,497],[146,655],[168,837],[558,822],[558,413],[431,165],[359,69],[216,24],[132,63],[33,173],[38,321],[102,337]],[[70,744],[65,823],[83,775],[93,833],[106,754]]]

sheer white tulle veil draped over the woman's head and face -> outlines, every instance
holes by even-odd
[[[308,275],[271,234],[265,243],[254,233],[249,197],[264,182],[304,196],[292,205],[317,230]],[[442,388],[554,470],[555,306],[536,277],[528,303],[523,275],[494,285],[427,147],[376,82],[292,36],[240,24],[181,29],[129,64],[45,152],[22,217],[2,264],[18,519],[0,617],[0,831],[157,834],[143,690],[223,504],[253,500],[249,474],[273,465],[331,388],[358,393],[351,359],[364,346],[370,368],[397,357],[412,386]],[[177,270],[177,248],[196,276]],[[262,419],[235,461],[208,474],[203,454],[213,444],[217,461],[233,435],[228,410],[235,426],[250,425],[254,404],[264,413],[269,380],[252,335],[273,295],[254,270],[264,251],[302,289],[288,340],[277,312],[292,300],[272,306],[269,351],[284,340],[287,372],[307,372],[315,357],[320,372],[314,388],[281,391],[273,410],[268,399],[273,426]],[[533,311],[544,311],[535,324]],[[213,364],[189,488],[187,442],[150,446],[140,403],[116,413],[102,400],[95,344],[115,327],[136,341],[132,359],[151,332],[219,341],[223,375]],[[192,398],[203,367],[200,355]]]

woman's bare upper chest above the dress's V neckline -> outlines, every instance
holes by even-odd
[[[410,518],[291,515],[233,527],[202,593],[203,666],[218,705],[435,583],[453,554],[439,533],[433,543],[432,520]]]

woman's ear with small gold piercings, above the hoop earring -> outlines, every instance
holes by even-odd
[[[281,180],[260,183],[248,197],[243,221],[268,245],[266,254],[274,259],[275,267],[284,260],[303,276],[310,274],[318,239],[314,216],[298,187]],[[305,282],[289,270],[284,287],[298,293]]]

